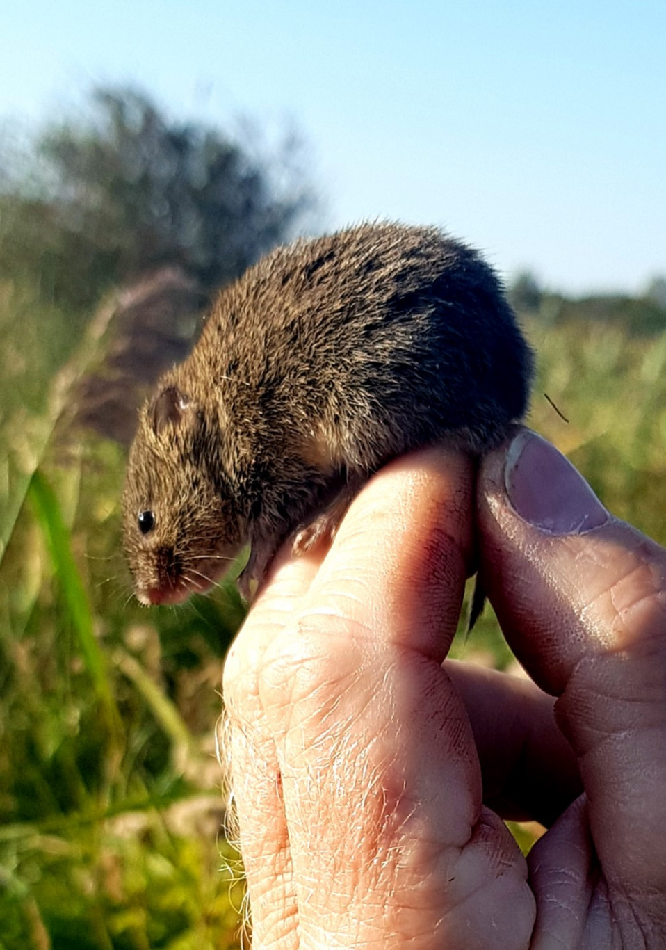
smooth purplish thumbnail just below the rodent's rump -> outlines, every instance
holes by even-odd
[[[504,485],[521,518],[551,534],[584,534],[609,517],[568,459],[528,429],[508,447]]]

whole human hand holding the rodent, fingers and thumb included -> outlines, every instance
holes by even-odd
[[[329,552],[283,555],[230,652],[256,947],[664,945],[666,552],[534,436],[477,494],[534,683],[441,665],[474,544],[471,463],[441,448],[380,472]],[[500,814],[552,823],[526,862]]]

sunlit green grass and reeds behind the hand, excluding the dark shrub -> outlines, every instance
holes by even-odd
[[[666,543],[666,334],[545,306],[523,322],[529,424]],[[180,608],[131,598],[123,451],[71,423],[104,346],[104,327],[0,284],[0,948],[236,947],[214,734],[242,605],[232,585]],[[455,651],[513,662],[490,611]]]

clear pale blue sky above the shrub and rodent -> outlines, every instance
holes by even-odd
[[[441,224],[571,292],[666,274],[666,0],[2,4],[0,116],[128,81],[295,123],[329,229]]]

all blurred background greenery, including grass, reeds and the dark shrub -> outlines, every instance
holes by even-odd
[[[210,290],[314,199],[293,143],[257,156],[132,90],[92,106],[0,169],[0,948],[234,947],[214,731],[242,607],[232,585],[177,609],[131,599],[123,442]],[[663,291],[511,288],[539,353],[531,425],[660,542]],[[513,663],[490,612],[455,649]]]

